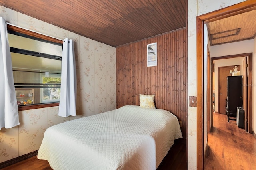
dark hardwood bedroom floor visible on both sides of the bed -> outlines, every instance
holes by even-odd
[[[187,170],[186,144],[176,141],[157,170]],[[1,170],[52,170],[48,161],[33,156]]]

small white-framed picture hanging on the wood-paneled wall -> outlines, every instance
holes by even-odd
[[[156,43],[151,43],[147,45],[147,65],[148,67],[152,67],[152,66],[156,66],[157,65],[157,47],[156,47]]]

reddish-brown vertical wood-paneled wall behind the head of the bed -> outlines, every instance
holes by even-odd
[[[116,107],[140,105],[139,94],[155,94],[157,109],[182,121],[186,141],[188,109],[187,30],[116,48]],[[147,67],[147,44],[157,42],[157,66]]]

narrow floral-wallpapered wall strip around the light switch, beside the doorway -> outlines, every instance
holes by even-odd
[[[196,96],[196,16],[243,0],[188,0],[188,96]],[[188,106],[188,169],[196,170],[196,107]]]

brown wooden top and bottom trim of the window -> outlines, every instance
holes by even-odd
[[[20,27],[16,27],[10,24],[7,24],[7,30],[12,31],[12,32],[18,32],[21,34],[26,34],[27,36],[40,39],[42,41],[46,42],[52,42],[52,43],[59,43],[63,44],[63,40],[59,40],[50,36],[46,36],[44,34],[39,34],[37,32],[33,32],[30,30],[26,30]],[[53,106],[58,106],[59,102],[54,102],[54,103],[41,103],[41,104],[34,104],[34,105],[23,105],[18,107],[18,111],[24,111],[24,110],[30,110],[30,109],[39,109],[39,108],[44,108],[44,107],[53,107]]]

